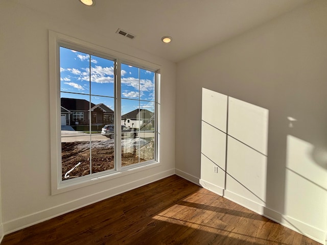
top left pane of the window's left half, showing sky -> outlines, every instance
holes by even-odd
[[[88,54],[60,47],[60,91],[89,93]]]

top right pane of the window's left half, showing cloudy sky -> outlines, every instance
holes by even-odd
[[[91,56],[91,94],[114,96],[114,62]]]

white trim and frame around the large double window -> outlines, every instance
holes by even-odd
[[[121,167],[121,163],[116,163],[116,169],[103,171],[101,173],[96,173],[88,176],[79,177],[77,179],[61,180],[61,118],[58,116],[60,114],[60,62],[59,62],[59,45],[64,45],[71,48],[76,48],[81,52],[86,52],[88,54],[100,55],[101,57],[108,59],[115,59],[118,61],[118,66],[121,62],[126,62],[131,65],[135,65],[139,68],[145,68],[156,72],[156,103],[155,103],[155,113],[156,113],[156,129],[155,133],[155,156],[156,160],[147,161],[144,163],[133,164],[129,167]],[[91,53],[90,51],[94,51]],[[119,67],[118,67],[119,68]],[[77,38],[69,37],[64,34],[60,34],[49,30],[49,71],[50,71],[50,136],[51,136],[51,194],[59,194],[65,191],[74,190],[91,184],[96,184],[99,182],[123,177],[136,173],[137,171],[142,171],[148,168],[156,167],[160,165],[160,65],[154,64],[142,59],[129,56],[124,53],[110,50],[108,48],[98,46],[86,41],[79,40]],[[120,72],[118,72],[120,73]],[[120,77],[120,74],[115,74],[115,76]],[[120,79],[118,79],[120,81]],[[116,95],[117,100],[115,103],[115,109],[120,108],[121,98],[120,98],[120,84],[117,84]],[[115,124],[118,124],[118,118],[121,117],[121,111],[116,110]],[[115,127],[116,134],[121,134],[121,127]],[[115,140],[118,137],[114,137]],[[116,140],[115,144],[115,155],[121,155],[120,142]]]

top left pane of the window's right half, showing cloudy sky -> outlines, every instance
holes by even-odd
[[[139,68],[122,64],[122,98],[139,99]]]

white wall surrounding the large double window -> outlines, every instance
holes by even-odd
[[[0,142],[5,233],[174,174],[176,65],[58,18],[3,1]],[[161,165],[51,195],[48,30],[161,65]]]

